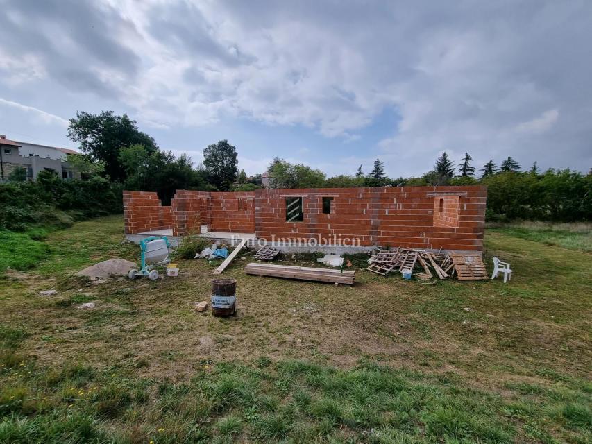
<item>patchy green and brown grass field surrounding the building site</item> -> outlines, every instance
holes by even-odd
[[[122,225],[53,232],[33,268],[0,279],[1,443],[592,440],[585,241],[489,230],[488,269],[493,255],[510,262],[509,284],[356,268],[354,287],[335,287],[244,275],[245,253],[224,272],[238,314],[220,319],[193,309],[215,264],[179,260],[178,278],[156,282],[74,279],[137,259]]]

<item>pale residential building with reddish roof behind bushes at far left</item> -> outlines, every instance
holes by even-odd
[[[26,169],[27,180],[37,179],[40,171],[51,171],[64,180],[79,179],[80,173],[68,162],[69,156],[77,154],[68,148],[19,142],[0,134],[0,181],[8,180],[17,168]]]

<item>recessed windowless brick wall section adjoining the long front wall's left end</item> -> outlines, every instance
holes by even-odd
[[[255,232],[255,192],[211,193],[209,231]]]

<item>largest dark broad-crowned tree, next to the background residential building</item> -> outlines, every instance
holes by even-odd
[[[158,149],[154,139],[138,130],[136,121],[127,114],[76,112],[76,118],[69,122],[68,137],[71,141],[78,143],[83,153],[90,155],[92,160],[104,162],[105,176],[115,182],[126,179],[124,168],[119,164],[121,148],[141,144],[149,152]]]

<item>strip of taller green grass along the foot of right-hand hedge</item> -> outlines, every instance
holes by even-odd
[[[501,225],[491,230],[546,245],[592,252],[592,230],[588,223],[524,222]]]

